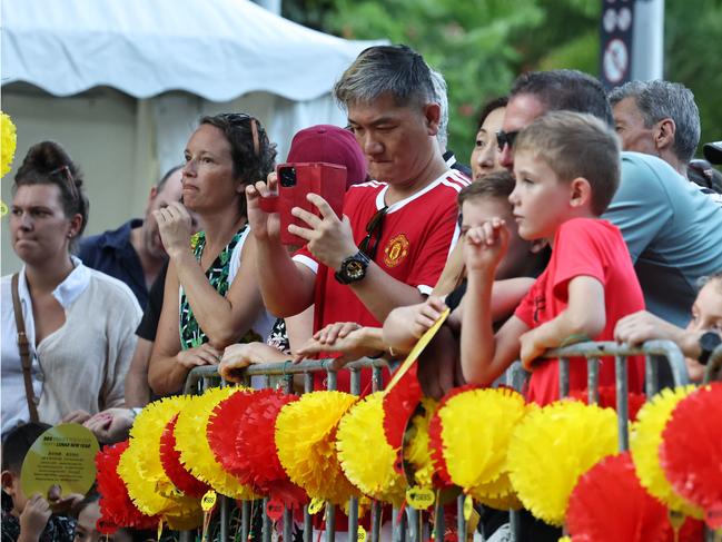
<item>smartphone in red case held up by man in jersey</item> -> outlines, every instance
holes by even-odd
[[[284,245],[305,245],[306,239],[288,231],[295,224],[307,228],[308,224],[290,214],[294,207],[300,207],[316,216],[320,211],[306,199],[307,194],[318,194],[340,217],[346,194],[346,166],[327,162],[280,164],[276,167],[278,179],[278,203],[280,214],[280,242]],[[267,198],[265,198],[267,199]]]

